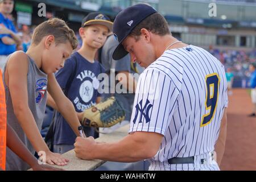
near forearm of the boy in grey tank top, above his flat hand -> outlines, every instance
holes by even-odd
[[[42,135],[40,134],[38,126],[36,126],[35,119],[29,107],[24,105],[20,107],[16,106],[14,111],[20,126],[22,127],[28,140],[30,140],[32,146],[35,148],[36,152],[49,151],[49,148],[47,147],[42,138]]]

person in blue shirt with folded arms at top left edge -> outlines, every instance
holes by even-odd
[[[21,44],[13,22],[8,16],[13,11],[13,0],[0,0],[0,68],[3,69],[8,55],[16,51]]]

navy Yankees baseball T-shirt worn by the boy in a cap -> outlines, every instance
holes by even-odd
[[[71,100],[77,112],[82,112],[96,104],[100,96],[97,77],[105,72],[98,61],[90,63],[80,53],[75,52],[65,61],[64,68],[56,73],[55,77],[65,95]],[[60,113],[56,113],[53,127],[53,144],[74,144],[76,135]],[[94,136],[94,129],[85,127],[86,137]]]

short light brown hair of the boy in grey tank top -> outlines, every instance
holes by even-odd
[[[31,43],[38,45],[47,35],[53,35],[56,44],[66,43],[69,41],[73,49],[77,48],[78,42],[75,32],[67,26],[64,20],[51,18],[46,22],[39,24],[39,26],[34,30]]]

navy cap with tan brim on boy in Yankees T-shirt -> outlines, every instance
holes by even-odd
[[[113,22],[111,22],[108,16],[100,12],[89,13],[84,19],[82,19],[82,27],[91,24],[102,24],[108,27],[110,32],[113,29]]]

